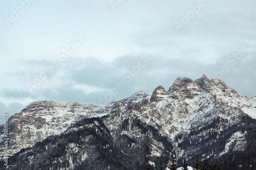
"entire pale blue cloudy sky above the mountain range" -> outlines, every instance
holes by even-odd
[[[34,101],[104,106],[178,76],[256,95],[256,1],[0,2],[0,123]]]

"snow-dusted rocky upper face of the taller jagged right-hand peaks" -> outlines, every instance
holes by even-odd
[[[254,100],[239,94],[217,78],[204,75],[193,81],[178,77],[168,91],[162,86],[157,87],[150,100],[144,98],[116,102],[111,109],[110,117],[105,120],[105,125],[114,133],[124,119],[138,117],[142,122],[157,128],[163,136],[169,136],[177,156],[181,157],[186,153],[179,147],[179,143],[189,141],[179,136],[189,136],[195,130],[200,131],[200,128],[212,126],[211,123],[222,122],[222,126],[206,129],[194,137],[193,140],[197,141],[198,138],[200,142],[208,133],[220,133],[227,127],[238,124],[238,117],[244,113],[255,118],[254,106]],[[129,133],[130,137],[135,137],[135,134],[125,132]],[[214,142],[214,139],[210,140]],[[229,144],[241,143],[240,141],[244,140],[244,136],[233,135],[229,139]],[[246,144],[242,144],[237,148],[243,151],[245,147]],[[151,150],[152,155],[160,154],[155,152],[154,146]],[[231,150],[236,151],[226,147],[220,155]]]

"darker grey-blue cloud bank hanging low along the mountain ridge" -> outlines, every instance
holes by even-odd
[[[151,61],[148,61],[138,73],[134,74],[133,68],[138,65],[138,61],[143,55],[122,56],[112,62],[102,62],[95,58],[70,57],[68,61],[63,62],[66,67],[56,69],[51,77],[37,87],[35,92],[31,93],[27,88],[23,90],[3,89],[0,92],[2,99],[8,101],[16,99],[17,102],[8,106],[1,103],[1,109],[11,114],[19,112],[25,104],[29,104],[18,103],[22,100],[28,102],[37,100],[77,101],[82,104],[99,105],[100,97],[104,98],[106,93],[110,93],[109,90],[116,87],[117,82],[123,84],[123,89],[118,90],[116,95],[112,95],[113,101],[121,100],[139,90],[153,91],[159,85],[168,90],[178,76],[190,77],[194,80],[203,74],[216,77],[213,72],[220,70],[223,65],[229,64],[226,62],[226,57],[216,63],[205,64],[192,59],[147,55]],[[255,56],[255,53],[250,55]],[[229,71],[223,74],[222,79],[240,93],[252,96],[256,95],[254,90],[256,59],[248,56],[238,61],[235,66],[230,66]],[[41,63],[41,66],[45,65],[44,62]],[[133,72],[134,77],[129,76],[127,72],[129,70]],[[125,76],[126,78],[124,78]],[[233,79],[234,77],[236,79]],[[59,82],[57,86],[54,85],[56,80]],[[19,83],[18,80],[17,83]],[[2,111],[2,114],[4,112]]]

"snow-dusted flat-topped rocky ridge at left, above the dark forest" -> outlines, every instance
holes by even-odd
[[[33,144],[48,136],[64,132],[72,123],[81,118],[103,116],[109,110],[108,106],[102,108],[94,105],[81,105],[76,102],[33,102],[8,120],[8,137],[11,139],[9,154],[13,155],[20,149],[32,147]],[[3,138],[0,139],[1,141]]]

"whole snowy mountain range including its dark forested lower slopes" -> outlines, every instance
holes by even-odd
[[[167,91],[139,91],[105,107],[34,102],[8,126],[11,157],[3,169],[144,169],[160,159],[165,168],[173,156],[193,165],[197,155],[223,169],[256,169],[256,96],[206,75],[178,77]],[[4,138],[0,144],[3,153]]]

